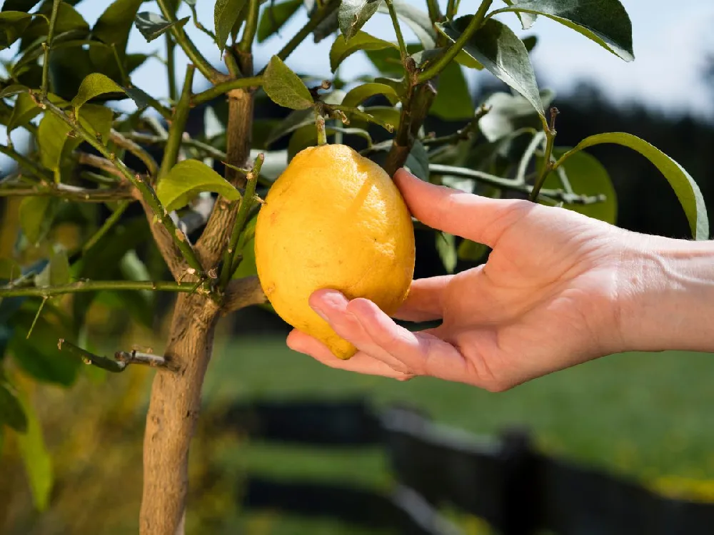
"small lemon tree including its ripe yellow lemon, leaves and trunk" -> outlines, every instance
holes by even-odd
[[[84,4],[5,0],[0,11],[0,153],[16,163],[0,180],[0,437],[21,453],[38,509],[53,470],[21,385],[71,387],[82,374],[151,365],[141,533],[180,533],[219,317],[268,307],[349,357],[306,295],[336,285],[387,312],[403,300],[418,223],[391,183],[398,168],[614,223],[608,171],[586,151],[616,143],[654,163],[693,238],[709,238],[695,181],[650,143],[600,133],[558,145],[557,98],[538,87],[528,30],[550,19],[633,61],[618,0],[114,0],[92,24]],[[373,17],[391,31],[369,33]],[[143,53],[127,46],[133,29]],[[199,33],[210,50],[196,46]],[[328,79],[289,66],[308,39]],[[264,61],[268,40],[281,45]],[[345,68],[356,54],[373,76]],[[135,83],[146,61],[163,69],[165,94]],[[474,103],[474,71],[508,90]],[[488,253],[442,233],[432,243],[452,272]],[[174,295],[168,308],[157,292]],[[111,321],[96,322],[96,310]],[[129,320],[156,327],[169,314],[157,354],[97,349]]]

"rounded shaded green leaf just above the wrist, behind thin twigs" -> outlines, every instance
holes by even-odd
[[[560,158],[567,151],[565,148],[553,149],[553,157]],[[543,158],[536,160],[536,165],[540,168],[543,165]],[[605,221],[611,225],[617,223],[618,198],[615,193],[610,175],[602,163],[595,156],[585,152],[574,153],[555,173],[550,173],[545,179],[543,189],[563,189],[563,183],[559,178],[559,171],[565,172],[565,178],[573,188],[573,192],[578,195],[605,195],[603,203],[583,204],[563,204],[563,208],[573,210],[587,215],[590,218]]]

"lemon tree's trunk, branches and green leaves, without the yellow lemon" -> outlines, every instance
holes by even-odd
[[[709,237],[698,186],[640,138],[602,133],[574,148],[555,145],[558,111],[545,111],[553,94],[539,90],[528,57],[535,41],[519,39],[496,18],[516,14],[528,29],[545,16],[631,61],[630,21],[617,0],[506,1],[500,9],[493,0],[477,7],[449,0],[443,13],[434,0],[425,11],[399,0],[288,0],[263,7],[258,0],[217,0],[212,30],[198,22],[196,0],[185,1],[193,16],[177,19],[178,0],[157,0],[158,12],[139,12],[142,0],[116,0],[93,27],[74,9],[78,1],[48,0],[35,9],[35,0],[6,0],[0,12],[0,46],[19,41],[2,79],[0,121],[9,133],[24,128],[33,138],[28,151],[11,138],[0,146],[18,163],[2,180],[0,196],[23,198],[21,233],[0,265],[0,349],[13,362],[3,361],[0,417],[26,437],[21,444],[39,504],[46,500],[49,469],[31,407],[14,387],[15,370],[69,385],[82,360],[110,372],[151,365],[158,370],[144,437],[141,532],[182,529],[188,445],[216,323],[243,307],[266,306],[251,261],[261,197],[291,157],[323,142],[323,135],[357,148],[389,173],[406,165],[423,180],[484,195],[521,195],[610,222],[615,196],[608,173],[582,150],[618,143],[659,168],[692,235]],[[278,31],[298,9],[308,10],[306,25],[266,66],[253,66],[254,41]],[[390,17],[396,42],[361,31],[378,13]],[[185,31],[189,23],[216,42],[225,71],[196,49]],[[147,41],[166,42],[167,98],[131,82],[148,57],[126,53],[134,24]],[[418,42],[405,41],[401,24]],[[319,81],[283,62],[308,36],[320,41],[335,31],[333,72],[366,51],[383,76],[353,80],[341,73]],[[176,46],[191,60],[181,86]],[[513,92],[494,93],[474,108],[463,68],[486,68]],[[211,88],[194,93],[196,70]],[[111,105],[126,98],[136,111]],[[266,99],[293,111],[281,121],[258,121],[256,109]],[[203,128],[188,135],[197,112]],[[437,136],[432,127],[442,130],[442,121],[461,123]],[[129,232],[126,225],[119,232],[119,220]],[[79,235],[62,234],[68,223]],[[443,233],[431,239],[447,271],[488,253]],[[99,345],[86,336],[92,300],[114,300],[151,323],[151,308],[162,310],[154,292],[176,294],[163,354],[123,348],[114,359],[97,355]]]

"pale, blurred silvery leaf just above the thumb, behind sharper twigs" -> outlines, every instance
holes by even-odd
[[[554,98],[553,91],[540,92],[540,101],[547,108]],[[531,103],[520,95],[511,93],[493,93],[483,103],[489,108],[488,113],[478,121],[478,128],[490,142],[508,136],[518,128],[540,126],[540,119]]]

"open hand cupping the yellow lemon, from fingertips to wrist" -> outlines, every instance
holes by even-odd
[[[623,266],[643,235],[563,208],[431,185],[406,170],[394,180],[418,220],[490,246],[488,262],[413,281],[395,317],[443,320],[420,332],[369,300],[318,290],[311,307],[359,351],[339,360],[298,330],[288,335],[291,349],[343,370],[430,375],[493,392],[625,350],[619,294],[635,292]]]

